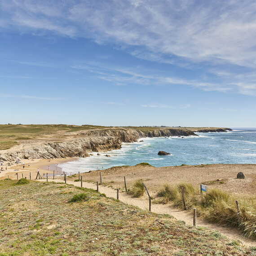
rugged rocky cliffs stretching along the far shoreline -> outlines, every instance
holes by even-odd
[[[187,128],[163,128],[142,132],[130,128],[102,128],[70,133],[62,142],[37,142],[14,146],[0,151],[0,160],[50,159],[87,157],[88,153],[120,149],[122,142],[135,142],[142,137],[197,136],[194,132],[225,132],[229,128],[210,128],[191,131]]]

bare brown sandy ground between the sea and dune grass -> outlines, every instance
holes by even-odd
[[[215,187],[244,196],[255,195],[256,191],[256,164],[212,164],[159,168],[143,165],[114,167],[84,172],[83,180],[99,181],[100,171],[105,185],[124,189],[124,176],[128,186],[142,179],[152,195],[156,194],[164,184],[174,185],[180,182],[189,182],[198,187],[200,184],[206,184],[209,188]],[[246,178],[237,179],[238,172],[243,172]]]

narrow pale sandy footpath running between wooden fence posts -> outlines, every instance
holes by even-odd
[[[37,180],[37,181],[45,181],[45,179]],[[53,180],[50,180],[50,181],[53,181]],[[55,182],[64,182],[63,179],[57,179],[57,180],[55,179],[54,181]],[[75,185],[78,187],[80,187],[80,185],[81,185],[80,182],[75,182],[75,181],[67,181],[67,184]],[[83,187],[96,190],[95,184],[85,182],[85,181],[83,181]],[[116,194],[117,194],[116,190],[109,188],[109,187],[105,187],[105,186],[99,186],[99,192],[106,194],[107,197],[112,197],[112,198],[116,198]],[[126,193],[119,192],[119,200],[123,203],[137,206],[137,207],[141,208],[142,210],[148,210],[148,207],[149,207],[148,200],[135,199]],[[163,205],[163,204],[152,204],[151,211],[155,212],[155,213],[169,214],[169,215],[175,217],[179,221],[185,221],[185,223],[187,225],[193,225],[193,216],[191,215],[191,212],[189,212],[189,211],[184,211],[181,209],[171,207],[170,205]],[[248,239],[248,238],[244,238],[242,233],[239,232],[235,228],[211,224],[211,223],[208,223],[208,222],[200,220],[200,219],[197,220],[197,225],[201,226],[201,227],[206,227],[206,228],[209,228],[212,230],[217,230],[221,234],[223,234],[227,238],[229,238],[230,240],[240,240],[242,242],[242,244],[245,246],[249,246],[249,247],[256,246],[255,241],[252,241],[251,239]]]

